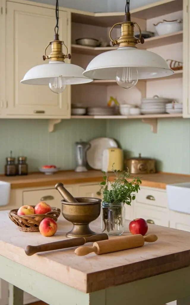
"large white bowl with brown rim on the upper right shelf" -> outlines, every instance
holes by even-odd
[[[162,20],[157,24],[154,24],[155,29],[158,35],[165,35],[173,32],[178,32],[183,30],[183,21],[182,20]]]

